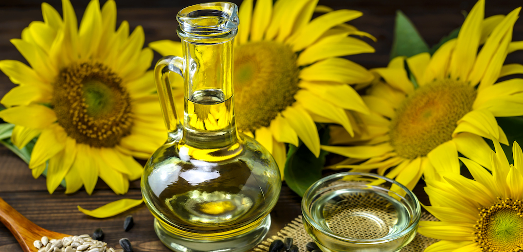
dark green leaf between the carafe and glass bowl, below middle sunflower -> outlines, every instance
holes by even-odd
[[[320,129],[320,142],[328,144],[329,130],[326,125],[318,125]],[[322,178],[322,169],[325,165],[326,151],[321,151],[316,158],[314,154],[304,144],[294,146],[289,144],[287,162],[285,163],[285,181],[289,188],[298,193],[301,197],[314,182]]]

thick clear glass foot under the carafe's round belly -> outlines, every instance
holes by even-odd
[[[243,252],[254,248],[265,238],[269,231],[270,215],[262,219],[257,226],[247,233],[241,233],[229,238],[201,240],[179,236],[164,227],[161,221],[154,220],[154,231],[162,243],[177,252]]]

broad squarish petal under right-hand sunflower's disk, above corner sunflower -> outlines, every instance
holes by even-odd
[[[427,157],[437,173],[460,173],[458,151],[452,140],[438,145]]]

